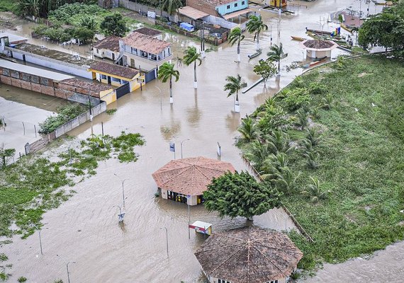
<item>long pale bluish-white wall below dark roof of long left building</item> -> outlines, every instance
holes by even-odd
[[[5,51],[12,52],[13,58],[23,60],[23,55],[26,55],[26,62],[37,64],[39,66],[47,67],[50,69],[55,69],[58,71],[63,71],[67,74],[72,74],[74,76],[82,76],[86,79],[92,79],[91,71],[87,71],[86,67],[81,67],[75,64],[69,64],[66,62],[58,61],[56,59],[51,59],[43,57],[37,54],[31,54],[23,50],[18,50],[11,47],[5,47]]]

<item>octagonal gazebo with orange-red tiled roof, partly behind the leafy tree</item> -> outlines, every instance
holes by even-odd
[[[152,174],[164,199],[196,205],[213,178],[235,172],[231,163],[206,157],[172,160]]]

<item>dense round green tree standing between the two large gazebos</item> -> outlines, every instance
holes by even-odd
[[[269,183],[257,183],[247,172],[225,173],[213,178],[208,190],[203,193],[208,212],[217,211],[220,217],[237,216],[252,220],[269,209],[279,207],[281,193]]]

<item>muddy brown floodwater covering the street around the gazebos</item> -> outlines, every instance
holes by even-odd
[[[299,2],[293,1],[297,4]],[[304,36],[305,27],[318,28],[320,17],[340,11],[347,6],[359,6],[359,1],[318,0],[300,2],[308,8],[294,8],[297,16],[281,16],[264,12],[266,23],[272,25],[274,43],[282,42],[289,56],[283,60],[283,69],[302,58],[302,50],[290,35]],[[373,4],[372,4],[373,6]],[[331,26],[332,24],[330,24]],[[22,28],[23,30],[24,28]],[[280,79],[269,81],[269,91],[263,93],[262,84],[240,95],[241,113],[232,112],[233,99],[223,91],[225,77],[240,74],[247,83],[258,77],[252,72],[260,57],[250,61],[247,54],[254,52],[252,36],[247,33],[242,42],[242,62],[237,64],[236,47],[227,44],[218,51],[209,52],[198,67],[198,90],[193,89],[192,67],[179,67],[180,79],[174,83],[174,105],[169,104],[167,83],[152,81],[143,91],[135,91],[120,98],[108,108],[117,108],[113,115],[103,113],[69,134],[85,139],[91,133],[101,134],[103,122],[106,134],[118,135],[122,131],[140,132],[147,143],[136,151],[136,163],[119,163],[116,160],[101,162],[97,175],[78,183],[76,194],[59,208],[43,216],[41,233],[44,255],[40,255],[38,233],[26,240],[17,236],[13,243],[1,247],[13,264],[13,282],[24,276],[29,282],[53,282],[61,278],[67,282],[64,262],[69,265],[71,282],[203,282],[200,266],[193,253],[204,238],[193,231],[188,238],[188,210],[180,204],[155,197],[157,187],[151,174],[174,158],[169,151],[169,141],[176,142],[176,156],[206,156],[217,158],[216,146],[222,148],[222,160],[230,161],[237,170],[244,170],[240,151],[233,145],[241,117],[249,114],[279,88],[286,86],[301,69],[282,71]],[[261,45],[265,57],[269,49],[271,30],[264,32]],[[174,57],[188,45],[197,45],[179,35],[166,35],[173,42]],[[337,52],[335,52],[335,55]],[[162,92],[161,95],[158,89]],[[161,107],[161,108],[160,108]],[[69,146],[64,144],[64,149]],[[118,224],[118,208],[122,204],[121,182],[125,181],[125,220]],[[213,231],[244,226],[245,219],[220,219],[208,213],[203,206],[191,207],[191,222],[207,221]],[[291,229],[290,219],[278,209],[254,217],[254,224],[264,228]],[[169,257],[165,250],[165,231],[168,230]],[[350,260],[339,265],[325,265],[316,277],[308,282],[399,282],[404,277],[403,243],[389,246],[370,260]],[[215,255],[212,255],[215,256]],[[359,280],[359,281],[358,281]]]

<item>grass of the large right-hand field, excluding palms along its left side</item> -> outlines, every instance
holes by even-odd
[[[321,133],[313,151],[319,154],[317,169],[308,167],[301,146],[288,154],[288,168],[295,177],[301,175],[283,202],[315,240],[309,243],[291,234],[304,253],[300,267],[312,270],[320,262],[342,262],[403,240],[403,77],[402,60],[364,56],[345,60],[338,69],[327,65],[310,71],[281,93],[284,98],[275,99],[285,109],[288,90],[308,90],[306,109],[312,121],[306,128]],[[303,96],[293,99],[300,103]],[[259,124],[262,110],[255,113],[260,130],[268,126]],[[289,122],[298,120],[295,110],[285,111]],[[301,144],[307,132],[294,122],[284,129],[291,141]],[[242,146],[244,152],[248,148]],[[310,177],[320,180],[321,192],[331,191],[324,200],[313,203],[302,194]],[[280,183],[275,179],[274,184]]]

